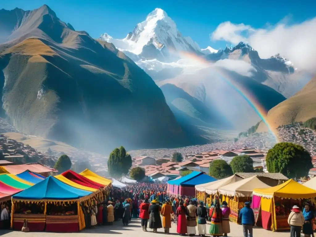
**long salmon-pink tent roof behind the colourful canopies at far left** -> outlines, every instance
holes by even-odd
[[[34,173],[50,173],[51,169],[41,164],[30,164],[30,165],[7,165],[0,167],[0,173],[19,174],[24,171],[31,171]]]

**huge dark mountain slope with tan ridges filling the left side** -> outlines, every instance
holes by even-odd
[[[48,6],[0,10],[1,116],[29,135],[108,152],[188,144],[161,89],[111,43]]]

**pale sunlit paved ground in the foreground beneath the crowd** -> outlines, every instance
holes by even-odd
[[[210,228],[210,225],[207,225],[207,229]],[[228,234],[230,237],[243,237],[242,227],[240,225],[230,222],[231,233]],[[149,236],[164,236],[165,233],[163,228],[158,229],[158,233],[152,233],[152,229],[148,229],[148,232],[144,232],[140,225],[140,219],[132,219],[131,223],[128,226],[123,226],[121,221],[114,222],[113,226],[97,226],[91,229],[84,229],[79,233],[48,233],[48,232],[29,232],[23,233],[21,231],[4,231],[0,230],[1,237],[80,237],[88,236],[93,234],[90,237],[100,237],[100,236],[116,236],[117,234],[122,234],[122,236],[129,237],[149,237]],[[168,236],[179,236],[177,233],[176,225],[173,225],[170,229],[170,234]],[[197,236],[197,235],[196,235]],[[289,237],[289,232],[272,232],[264,230],[262,228],[253,229],[253,237]],[[301,234],[303,236],[303,234]]]

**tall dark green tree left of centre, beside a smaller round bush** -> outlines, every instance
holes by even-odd
[[[114,178],[127,174],[131,166],[131,155],[126,152],[123,146],[115,148],[107,160],[109,174]]]

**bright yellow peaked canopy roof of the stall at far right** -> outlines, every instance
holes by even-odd
[[[283,184],[277,185],[271,188],[256,188],[253,190],[253,194],[260,197],[272,198],[283,197],[283,198],[311,198],[316,197],[316,190],[305,187],[293,179],[289,179]]]

